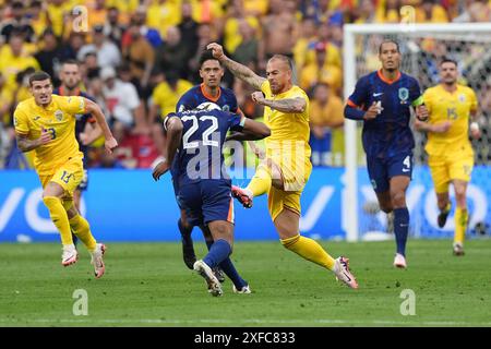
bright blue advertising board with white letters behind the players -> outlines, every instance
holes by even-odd
[[[301,197],[300,230],[303,234],[320,239],[345,238],[345,222],[356,207],[343,201],[343,168],[312,171]],[[360,237],[385,231],[386,215],[367,209],[370,203],[376,203],[367,170],[360,169],[358,174]],[[430,238],[452,234],[452,216],[444,229],[436,227],[438,208],[428,168],[415,169],[414,176],[407,193],[411,233]],[[470,228],[479,222],[491,224],[490,178],[488,167],[476,167],[472,172],[468,190]],[[34,171],[0,171],[0,242],[59,241]],[[176,241],[180,238],[177,231],[179,209],[169,174],[154,182],[149,170],[89,170],[82,213],[101,241]],[[255,197],[251,209],[236,203],[235,214],[237,240],[278,239],[267,212],[266,196]],[[199,239],[201,234],[194,236]]]

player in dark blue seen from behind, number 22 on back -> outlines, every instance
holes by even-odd
[[[206,256],[194,263],[194,270],[205,278],[212,296],[223,294],[212,270],[218,265],[231,278],[235,292],[249,293],[249,285],[235,268],[226,266],[231,265],[233,200],[223,147],[228,130],[246,131],[264,139],[270,135],[270,129],[243,116],[223,111],[213,103],[170,113],[164,127],[167,130],[166,159],[155,167],[152,176],[158,180],[169,170],[169,164],[177,164],[178,171],[172,176],[178,184],[179,206],[185,209],[191,225],[207,226],[214,240]]]

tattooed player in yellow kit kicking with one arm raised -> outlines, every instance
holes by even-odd
[[[232,188],[232,195],[246,207],[251,207],[254,196],[267,193],[270,214],[282,244],[332,270],[348,287],[358,288],[349,272],[348,258],[334,260],[315,240],[300,236],[300,195],[312,171],[309,97],[291,82],[291,61],[283,55],[273,56],[266,65],[267,79],[264,79],[226,57],[220,45],[213,43],[206,48],[213,50],[213,56],[236,77],[261,89],[252,94],[252,100],[265,107],[264,122],[271,129],[266,152],[254,177],[246,189]],[[251,140],[246,133],[230,139]]]

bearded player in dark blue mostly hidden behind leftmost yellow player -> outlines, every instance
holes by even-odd
[[[59,96],[82,96],[93,101],[94,98],[80,89],[80,83],[82,76],[80,74],[80,65],[76,60],[67,60],[61,64],[60,69],[60,87],[56,88],[52,93]],[[103,135],[103,130],[96,123],[95,118],[89,113],[76,115],[75,123],[75,137],[79,142],[79,148],[84,154],[84,178],[80,182],[76,190],[73,192],[73,204],[80,212],[80,201],[82,192],[87,190],[88,174],[87,174],[87,160],[88,160],[88,144],[97,140]]]

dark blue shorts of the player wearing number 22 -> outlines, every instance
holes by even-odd
[[[193,226],[213,220],[233,224],[231,183],[227,180],[202,180],[179,188],[179,207],[185,209],[188,221]]]

